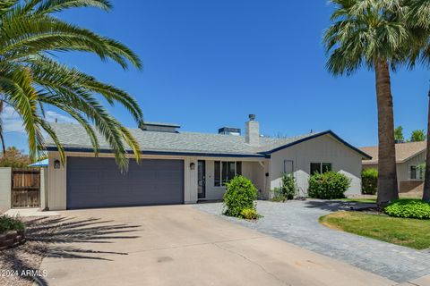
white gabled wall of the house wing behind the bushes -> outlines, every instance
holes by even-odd
[[[351,186],[345,194],[361,194],[362,156],[330,135],[310,139],[272,154],[270,189],[281,186],[284,160],[294,161],[294,175],[301,195],[307,194],[311,163],[331,163],[332,171],[344,173],[351,179]]]

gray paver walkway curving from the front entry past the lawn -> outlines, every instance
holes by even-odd
[[[404,248],[348,232],[334,231],[318,223],[320,216],[340,209],[348,210],[351,206],[360,207],[363,204],[319,200],[287,203],[259,201],[258,212],[264,217],[257,223],[220,215],[220,203],[199,204],[194,207],[395,282],[408,282],[430,274],[428,249]]]

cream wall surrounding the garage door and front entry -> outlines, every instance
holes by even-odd
[[[66,156],[87,156],[92,157],[90,153],[79,153],[79,152],[67,152]],[[99,154],[99,157],[113,157],[111,154]],[[184,160],[184,201],[185,204],[194,204],[197,202],[197,162],[198,160],[206,161],[206,198],[220,199],[223,197],[225,187],[214,187],[213,183],[213,162],[217,161],[241,161],[243,162],[242,168],[244,175],[252,178],[254,176],[254,166],[258,163],[252,162],[253,159],[248,158],[211,158],[198,157],[198,156],[142,156],[142,159],[178,159]],[[133,156],[131,156],[133,159]],[[54,161],[60,160],[58,152],[48,152],[49,166],[47,168],[47,208],[49,210],[64,210],[66,208],[66,165],[61,165],[59,169],[54,169]],[[194,164],[194,170],[191,170],[190,164]],[[255,172],[256,177],[258,172]],[[261,176],[261,174],[260,174]],[[262,184],[261,178],[258,179],[258,183]],[[259,185],[260,186],[260,185]],[[263,186],[260,186],[262,188]],[[259,188],[259,187],[257,187]]]

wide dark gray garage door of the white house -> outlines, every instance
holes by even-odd
[[[111,158],[67,157],[67,209],[183,202],[182,160],[130,160],[122,174]]]

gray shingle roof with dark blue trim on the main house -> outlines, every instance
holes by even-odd
[[[51,123],[52,128],[66,150],[83,150],[90,152],[92,146],[85,130],[81,125],[73,123]],[[133,137],[137,139],[143,152],[166,152],[166,153],[193,153],[207,155],[231,155],[231,156],[263,156],[264,153],[271,153],[280,147],[301,142],[330,133],[342,143],[348,145],[338,138],[331,131],[309,133],[287,139],[260,138],[260,146],[254,147],[245,143],[245,138],[234,135],[219,135],[197,132],[159,132],[144,131],[138,128],[129,129]],[[100,150],[110,149],[106,140],[99,137]],[[47,137],[47,149],[54,150],[56,145],[53,140]],[[366,157],[359,149],[352,147],[358,153]]]

